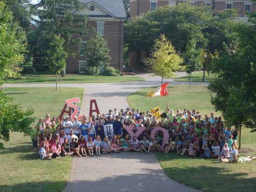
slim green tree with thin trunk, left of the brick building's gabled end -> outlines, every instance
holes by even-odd
[[[49,65],[50,71],[56,73],[56,89],[57,91],[57,83],[58,83],[58,73],[66,66],[67,53],[63,48],[64,39],[60,36],[53,36],[52,43],[50,44],[51,49],[47,52],[46,63]]]

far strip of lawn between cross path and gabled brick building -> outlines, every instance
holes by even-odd
[[[145,79],[137,76],[101,76],[95,79],[95,75],[68,75],[58,83],[111,83],[111,82],[130,82],[130,81],[144,81]],[[7,83],[55,83],[56,75],[52,74],[33,74],[26,77],[26,79],[8,79]]]

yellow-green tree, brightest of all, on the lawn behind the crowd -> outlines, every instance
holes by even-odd
[[[160,35],[159,39],[155,40],[151,56],[152,58],[148,58],[145,62],[154,73],[153,76],[162,77],[162,84],[163,78],[176,77],[174,72],[182,69],[180,66],[182,58],[164,35]]]

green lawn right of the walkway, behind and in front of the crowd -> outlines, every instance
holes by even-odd
[[[147,99],[147,93],[155,87],[143,89],[128,96],[131,108],[150,111],[160,106],[161,113],[165,110],[168,96],[156,96]],[[177,109],[196,109],[204,114],[214,112],[210,103],[210,92],[206,86],[170,86],[169,106],[175,112]],[[215,113],[216,116],[220,113]],[[256,134],[249,129],[242,130],[242,149],[240,156],[256,154]],[[218,163],[217,159],[190,158],[189,155],[180,156],[177,153],[155,153],[165,173],[171,179],[184,185],[208,192],[254,191],[256,189],[256,160],[242,164]]]

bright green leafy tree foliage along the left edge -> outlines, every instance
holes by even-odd
[[[24,57],[25,35],[21,35],[20,26],[13,21],[12,13],[0,2],[0,86],[8,77],[18,77],[19,67]],[[19,33],[17,33],[19,32]],[[25,34],[25,33],[23,33]],[[12,98],[0,91],[0,140],[9,141],[10,131],[30,134],[30,124],[34,122],[32,108],[23,110],[20,104],[11,105]],[[0,148],[4,148],[0,142]]]

